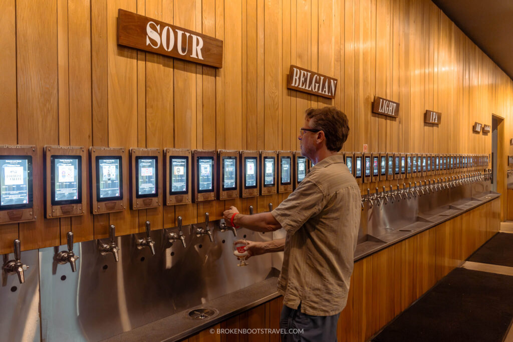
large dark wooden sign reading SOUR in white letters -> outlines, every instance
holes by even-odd
[[[117,44],[223,67],[223,41],[220,39],[121,8],[117,12]]]

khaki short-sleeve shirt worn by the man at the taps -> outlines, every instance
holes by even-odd
[[[324,158],[271,214],[286,230],[278,291],[309,315],[344,309],[361,215],[360,188],[341,155]]]

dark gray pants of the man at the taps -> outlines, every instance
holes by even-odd
[[[303,330],[303,333],[282,334],[283,342],[312,341],[330,342],[337,341],[337,323],[340,313],[332,316],[311,316],[301,312],[301,303],[298,310],[283,306],[280,316],[280,329]]]

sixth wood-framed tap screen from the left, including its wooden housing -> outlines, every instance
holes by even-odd
[[[205,202],[215,199],[218,183],[216,159],[217,153],[212,150],[192,151],[192,190],[194,202]]]

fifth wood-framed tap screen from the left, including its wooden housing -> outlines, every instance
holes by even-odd
[[[191,150],[164,149],[163,169],[166,178],[163,187],[166,206],[191,203]]]

